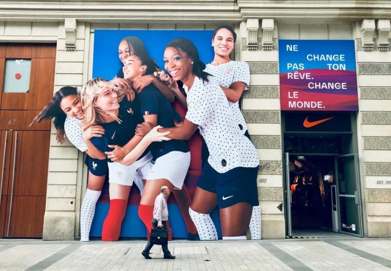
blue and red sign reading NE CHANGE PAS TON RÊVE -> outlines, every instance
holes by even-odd
[[[358,111],[353,40],[280,40],[282,111]]]

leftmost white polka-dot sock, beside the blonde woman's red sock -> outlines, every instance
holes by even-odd
[[[95,206],[102,191],[94,191],[87,188],[80,209],[80,241],[88,242],[90,240],[90,229],[95,215]]]

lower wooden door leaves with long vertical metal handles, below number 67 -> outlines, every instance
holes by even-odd
[[[2,138],[7,146],[2,144],[0,235],[42,237],[50,131],[2,131]]]

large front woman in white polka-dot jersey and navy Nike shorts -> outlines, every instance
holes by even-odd
[[[223,239],[246,239],[253,206],[259,205],[257,151],[241,131],[225,93],[204,71],[191,41],[172,40],[165,47],[164,63],[175,80],[170,85],[174,93],[176,81],[184,84],[188,111],[182,126],[159,131],[171,131],[168,138],[188,139],[199,128],[210,151],[189,209],[200,238],[217,238],[209,214],[218,205]]]

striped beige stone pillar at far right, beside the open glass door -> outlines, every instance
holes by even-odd
[[[362,48],[360,24],[354,24],[359,109],[357,133],[368,237],[391,236],[391,46]],[[391,38],[391,36],[389,36]]]

